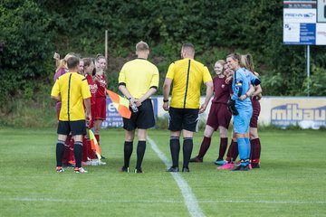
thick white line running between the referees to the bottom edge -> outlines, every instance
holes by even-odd
[[[163,152],[161,152],[150,137],[148,137],[149,144],[152,147],[152,149],[156,152],[158,157],[163,161],[163,163],[167,166],[169,166],[169,161],[167,156],[164,155]],[[191,216],[205,216],[204,212],[200,209],[196,196],[194,193],[192,193],[190,186],[187,184],[186,180],[179,175],[178,173],[171,173],[175,181],[177,182],[177,185],[179,189],[181,190],[181,193],[183,197],[185,198],[185,203],[187,205],[188,212]]]

